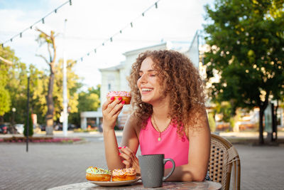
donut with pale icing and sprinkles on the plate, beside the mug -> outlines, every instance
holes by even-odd
[[[112,181],[128,181],[136,179],[136,171],[133,168],[112,170]]]

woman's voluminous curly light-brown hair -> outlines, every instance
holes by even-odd
[[[146,51],[139,54],[133,63],[129,86],[133,100],[133,115],[137,118],[137,125],[146,126],[148,117],[153,113],[152,105],[142,102],[141,93],[137,86],[139,70],[145,58],[153,60],[153,68],[158,73],[163,95],[170,95],[170,112],[172,124],[177,125],[178,134],[183,137],[197,124],[197,112],[204,107],[204,85],[197,68],[189,58],[177,51]]]

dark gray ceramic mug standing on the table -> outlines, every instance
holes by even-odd
[[[163,181],[168,179],[175,170],[175,161],[173,159],[165,159],[165,154],[146,154],[138,158],[144,187],[162,186]],[[173,168],[167,176],[164,176],[165,163],[168,161],[173,163]]]

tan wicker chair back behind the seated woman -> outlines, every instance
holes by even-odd
[[[233,179],[231,171],[233,169]],[[222,184],[222,189],[240,189],[241,163],[235,147],[223,137],[211,134],[211,153],[209,160],[209,177],[212,181]]]

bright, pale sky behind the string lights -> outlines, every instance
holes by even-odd
[[[204,5],[212,6],[214,2],[160,0],[155,9],[152,5],[157,1],[72,0],[71,6],[67,3],[55,14],[54,10],[67,0],[0,0],[0,43],[7,41],[4,46],[10,46],[21,62],[48,69],[43,58],[36,56],[48,57],[48,50],[35,41],[39,34],[35,28],[45,33],[55,31],[57,60],[65,51],[67,59],[77,60],[74,70],[84,88],[96,87],[101,83],[99,68],[119,65],[127,51],[165,41],[190,44],[206,23]],[[43,17],[44,23],[40,21]],[[26,28],[28,30],[24,31]],[[21,38],[16,36],[22,31]]]

